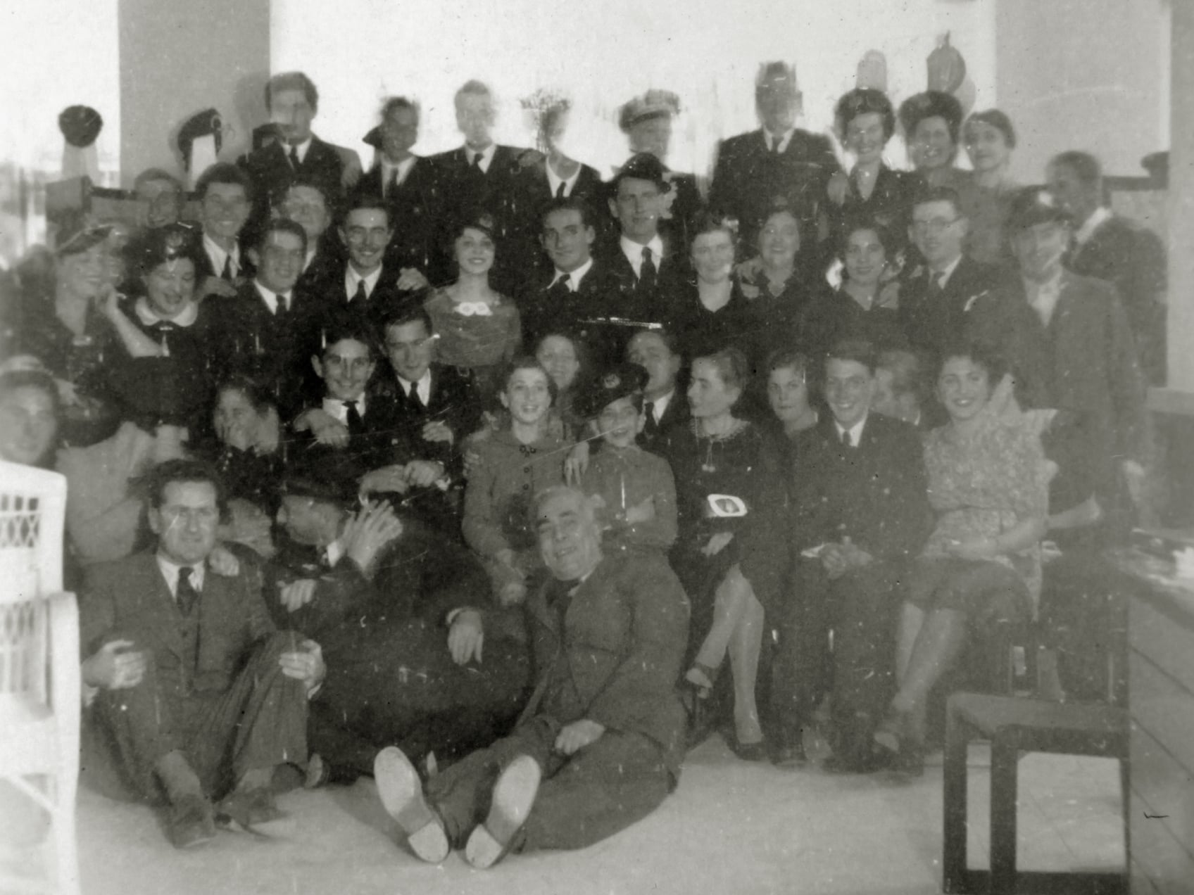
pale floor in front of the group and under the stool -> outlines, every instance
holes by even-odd
[[[971,751],[972,863],[986,851],[984,747]],[[1114,761],[1027,755],[1020,778],[1026,869],[1122,866]],[[84,893],[890,893],[940,890],[941,770],[910,784],[836,777],[816,766],[744,764],[713,739],[689,757],[656,814],[580,852],[515,856],[475,871],[457,856],[429,866],[395,845],[371,780],[282,797],[293,832],[264,841],[222,833],[176,852],[146,808],[82,791]]]

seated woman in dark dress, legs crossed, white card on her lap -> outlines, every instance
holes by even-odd
[[[672,567],[693,601],[691,663],[684,677],[689,706],[694,715],[703,714],[728,655],[731,748],[758,761],[765,746],[755,684],[787,553],[778,451],[759,427],[734,415],[746,376],[746,358],[737,348],[693,360],[693,421],[675,433],[667,459],[679,510]],[[700,721],[694,722],[698,728]]]

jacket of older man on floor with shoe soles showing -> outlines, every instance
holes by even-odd
[[[544,584],[527,599],[538,686],[523,712],[544,703],[558,662],[566,662],[583,711],[609,730],[648,736],[672,773],[684,754],[684,710],[676,680],[688,642],[688,598],[661,556],[604,558],[574,590],[564,613]]]

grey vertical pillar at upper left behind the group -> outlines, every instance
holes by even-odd
[[[270,0],[119,1],[121,183],[147,167],[183,174],[179,126],[216,109],[226,132],[221,159],[250,146],[266,119]]]

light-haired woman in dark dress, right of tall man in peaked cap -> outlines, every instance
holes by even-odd
[[[708,211],[696,216],[690,258],[695,279],[681,292],[671,329],[685,357],[752,344],[750,303],[733,276],[738,234],[733,223]]]

